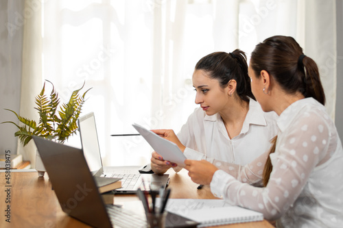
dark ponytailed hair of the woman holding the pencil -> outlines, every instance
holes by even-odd
[[[196,64],[196,70],[203,70],[212,79],[217,79],[224,88],[231,79],[237,81],[236,92],[241,100],[256,100],[251,92],[246,53],[236,49],[232,53],[214,52],[204,56]]]

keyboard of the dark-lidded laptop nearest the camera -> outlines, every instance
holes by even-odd
[[[108,215],[112,225],[120,228],[140,228],[147,227],[147,222],[145,218],[134,214],[130,210],[125,210],[122,207],[117,207],[116,205],[106,205]]]

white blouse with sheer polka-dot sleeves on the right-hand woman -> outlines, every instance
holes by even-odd
[[[262,212],[269,220],[279,219],[277,227],[342,227],[343,149],[324,106],[313,98],[296,101],[277,125],[268,185],[248,184],[258,180],[265,154],[241,167],[244,172],[236,178],[217,170],[211,191],[234,205]]]

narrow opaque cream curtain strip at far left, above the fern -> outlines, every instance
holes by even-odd
[[[18,4],[18,5],[17,5]],[[24,9],[20,3],[9,3],[12,20],[8,24],[9,35],[23,29],[23,66],[21,71],[21,102],[19,114],[25,118],[38,121],[38,113],[34,110],[34,97],[42,89],[42,36],[41,36],[41,3],[27,0]],[[19,11],[18,11],[19,10]],[[16,153],[23,154],[24,160],[29,160],[32,167],[36,164],[36,146],[30,142],[23,147],[18,140]]]

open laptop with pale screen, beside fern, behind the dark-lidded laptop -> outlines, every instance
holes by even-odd
[[[168,174],[141,174],[139,173],[141,166],[103,166],[93,112],[78,118],[78,126],[84,157],[86,157],[86,162],[93,175],[122,178],[122,188],[116,189],[116,194],[135,194],[137,189],[143,186],[143,181],[145,186],[152,188],[152,190],[158,190],[161,186],[167,186],[169,181]]]

